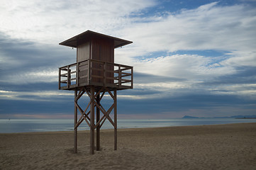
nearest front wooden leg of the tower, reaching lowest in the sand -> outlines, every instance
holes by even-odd
[[[90,154],[94,154],[94,87],[91,87]]]

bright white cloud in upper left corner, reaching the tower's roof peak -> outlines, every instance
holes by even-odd
[[[129,16],[155,5],[154,1],[1,1],[1,31],[11,38],[57,44],[91,29],[113,33]]]

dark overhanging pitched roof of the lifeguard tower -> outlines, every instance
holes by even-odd
[[[108,40],[113,40],[115,48],[122,47],[123,45],[128,45],[130,43],[133,43],[132,41],[123,40],[121,38],[115,38],[115,37],[111,37],[109,35],[104,35],[101,33],[96,33],[91,30],[87,30],[84,33],[80,33],[79,35],[69,38],[68,40],[60,42],[59,45],[65,45],[68,47],[77,47],[78,45],[81,45],[84,42],[87,42],[93,38],[104,38],[104,39],[108,39]]]

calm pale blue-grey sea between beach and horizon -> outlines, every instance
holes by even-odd
[[[118,119],[118,129],[156,128],[186,125],[216,125],[228,123],[256,123],[256,119],[235,118],[177,118],[177,119]],[[55,132],[72,131],[72,119],[0,119],[0,133],[13,132]],[[106,121],[101,129],[113,129]],[[89,130],[87,123],[79,125],[78,130]]]

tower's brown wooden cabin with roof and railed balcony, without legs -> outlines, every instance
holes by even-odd
[[[74,90],[81,86],[133,89],[133,67],[114,63],[114,49],[130,43],[91,30],[61,42],[60,45],[77,48],[77,63],[60,67],[59,89]]]

